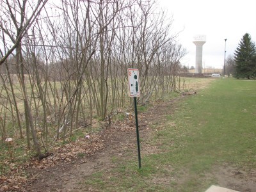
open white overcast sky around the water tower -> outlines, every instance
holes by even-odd
[[[256,0],[159,0],[160,6],[173,15],[173,29],[188,54],[181,63],[195,67],[195,35],[206,35],[203,46],[203,67],[222,68],[226,58],[233,55],[239,41],[249,33],[256,42]]]

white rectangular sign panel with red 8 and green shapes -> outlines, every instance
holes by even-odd
[[[140,97],[139,70],[128,68],[128,83],[130,97]]]

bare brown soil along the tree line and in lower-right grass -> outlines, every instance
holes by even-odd
[[[190,97],[188,95],[181,97]],[[180,97],[180,98],[181,98]],[[164,115],[175,112],[175,103],[179,99],[169,100],[167,102],[158,102],[147,112],[139,114],[140,136],[143,138],[143,153],[152,154],[157,152],[156,146],[150,146],[147,140],[152,137],[152,129],[150,125],[158,122],[161,124]],[[97,136],[93,136],[81,146],[98,145],[95,151],[85,152],[84,157],[70,157],[70,161],[61,161],[53,166],[40,168],[35,166],[27,170],[29,174],[28,182],[23,186],[21,191],[99,191],[94,188],[83,188],[81,182],[99,170],[106,170],[116,166],[112,158],[115,156],[127,156],[127,149],[132,150],[134,161],[138,161],[136,148],[136,130],[134,119],[125,119],[122,122],[115,122],[104,129]],[[69,150],[72,150],[69,148]],[[49,156],[49,159],[52,157]],[[130,157],[131,158],[131,157]],[[65,158],[64,158],[65,159]],[[159,176],[159,175],[158,175]],[[256,172],[255,170],[243,170],[241,168],[233,168],[228,164],[218,166],[214,173],[209,173],[205,177],[215,177],[218,184],[225,188],[237,191],[256,191]],[[184,173],[184,178],[188,179],[188,173]],[[183,179],[184,179],[183,178]],[[180,178],[175,179],[178,184],[182,184]],[[164,178],[155,178],[154,183],[168,184],[168,176]],[[172,175],[173,180],[173,175]],[[1,190],[0,190],[1,191]]]

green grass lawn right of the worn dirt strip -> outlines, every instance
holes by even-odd
[[[218,184],[216,167],[256,166],[256,81],[216,79],[196,95],[166,106],[152,120],[150,139],[141,138],[141,170],[136,154],[113,157],[116,166],[86,178],[96,191],[205,191]],[[156,152],[143,153],[143,146]],[[135,158],[134,158],[135,157]]]

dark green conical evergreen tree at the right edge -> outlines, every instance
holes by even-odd
[[[256,77],[256,47],[248,33],[243,35],[241,41],[234,52],[236,60],[236,71],[234,76],[237,78]]]

